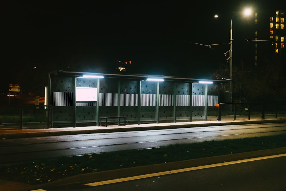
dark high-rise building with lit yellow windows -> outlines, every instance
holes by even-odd
[[[254,65],[285,64],[285,12],[263,10],[255,13]]]

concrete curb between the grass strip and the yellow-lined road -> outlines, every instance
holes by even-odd
[[[147,166],[108,170],[103,172],[93,172],[88,174],[75,175],[62,180],[56,180],[54,182],[41,184],[37,187],[48,188],[48,187],[62,186],[67,184],[70,185],[70,184],[85,184],[90,182],[100,182],[105,180],[126,178],[130,176],[139,176],[144,174],[152,174],[157,172],[165,172],[170,170],[178,170],[183,168],[191,168],[196,166],[204,166],[210,164],[217,164],[223,162],[230,162],[230,161],[250,159],[262,156],[284,154],[284,153],[286,153],[286,147],[280,147],[280,148],[250,151],[244,153],[235,153],[228,155],[219,155],[219,156],[191,159],[191,160],[184,160],[177,162],[168,162],[162,164],[153,164]]]

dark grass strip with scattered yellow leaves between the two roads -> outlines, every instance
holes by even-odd
[[[34,160],[1,169],[1,178],[32,185],[77,174],[286,147],[286,135],[204,141],[154,149],[134,149],[76,157]]]

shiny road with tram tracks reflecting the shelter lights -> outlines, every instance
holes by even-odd
[[[176,143],[257,137],[282,133],[286,133],[285,123],[4,139],[0,140],[0,164],[49,157],[154,148]]]

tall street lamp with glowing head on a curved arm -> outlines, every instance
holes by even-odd
[[[235,17],[236,15],[250,15],[251,14],[251,9],[245,9],[245,11],[243,13],[238,13],[233,15],[233,17]],[[215,18],[219,17],[218,15],[215,15]],[[229,58],[227,58],[227,62],[229,61],[229,92],[231,94],[231,103],[233,102],[232,100],[232,93],[233,93],[233,74],[232,74],[232,58],[233,58],[233,50],[232,50],[232,42],[233,42],[233,38],[232,38],[232,19],[233,17],[231,17],[231,28],[229,29]],[[227,53],[226,52],[226,53]],[[226,53],[224,53],[226,55]],[[230,111],[232,111],[232,105],[230,105]]]

